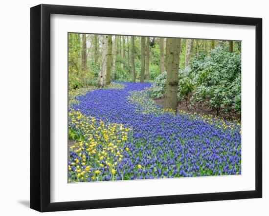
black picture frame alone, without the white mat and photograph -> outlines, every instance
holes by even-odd
[[[50,201],[50,15],[255,26],[255,190],[87,201]],[[40,212],[262,197],[262,19],[41,4],[30,9],[30,208]]]

